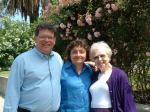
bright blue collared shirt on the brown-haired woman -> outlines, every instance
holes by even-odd
[[[89,86],[92,69],[85,64],[80,75],[75,66],[67,61],[61,75],[61,112],[89,112]]]

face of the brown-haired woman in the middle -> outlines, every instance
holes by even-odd
[[[86,60],[86,50],[83,47],[77,46],[71,50],[70,58],[74,65],[81,65]]]

